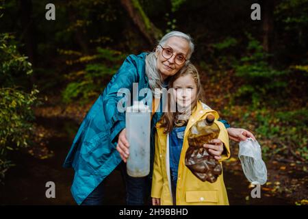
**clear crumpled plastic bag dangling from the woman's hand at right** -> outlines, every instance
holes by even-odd
[[[268,171],[261,157],[261,146],[252,138],[240,142],[238,158],[242,164],[244,175],[253,184],[264,185]]]

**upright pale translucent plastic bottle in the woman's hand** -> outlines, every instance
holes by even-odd
[[[131,177],[145,177],[150,172],[151,112],[142,101],[134,101],[126,111],[129,157],[127,174]]]

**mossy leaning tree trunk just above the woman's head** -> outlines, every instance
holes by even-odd
[[[162,31],[155,27],[151,23],[150,19],[144,11],[138,0],[120,0],[121,4],[128,12],[129,17],[133,20],[133,23],[138,27],[144,38],[153,45],[160,37],[162,37]]]

